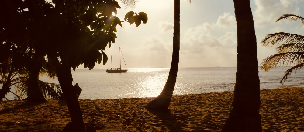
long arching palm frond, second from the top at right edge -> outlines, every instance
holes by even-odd
[[[284,32],[267,34],[261,41],[262,46],[273,46],[279,43],[304,43],[304,36]]]

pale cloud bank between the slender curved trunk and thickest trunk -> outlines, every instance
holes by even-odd
[[[188,28],[181,36],[183,63],[195,67],[235,66],[237,61],[237,35],[235,17],[224,13],[215,23],[203,23]]]

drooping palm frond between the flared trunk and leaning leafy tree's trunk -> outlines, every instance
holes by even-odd
[[[46,99],[59,99],[62,91],[59,84],[40,81],[40,88]]]

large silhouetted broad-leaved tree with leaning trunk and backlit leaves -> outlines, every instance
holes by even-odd
[[[72,131],[85,131],[78,99],[73,91],[71,68],[75,70],[83,64],[85,68],[92,69],[95,63],[107,62],[105,47],[115,43],[116,26],[121,26],[120,19],[116,17],[117,8],[120,8],[118,2],[3,0],[0,5],[3,7],[0,17],[5,18],[1,19],[0,25],[4,23],[7,26],[0,28],[1,43],[28,50],[37,65],[47,56],[47,65],[57,74],[66,97]],[[145,13],[129,12],[126,18],[136,26],[141,21],[147,22]]]

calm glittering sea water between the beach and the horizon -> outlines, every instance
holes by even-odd
[[[72,70],[73,85],[78,83],[82,89],[79,99],[156,97],[169,74],[169,68],[134,68],[127,73],[107,73],[105,70]],[[236,70],[236,67],[179,68],[173,95],[233,91]],[[303,71],[292,73],[287,82],[280,84],[285,70],[287,68],[260,70],[260,89],[304,85]],[[40,80],[58,83],[47,77],[40,77]],[[14,95],[9,93],[7,97],[13,99]]]

